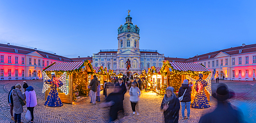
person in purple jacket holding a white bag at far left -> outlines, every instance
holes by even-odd
[[[26,101],[27,101],[27,109],[31,113],[31,120],[29,120],[28,122],[34,122],[34,108],[37,105],[34,88],[32,86],[27,87],[25,91],[25,95],[26,95]]]

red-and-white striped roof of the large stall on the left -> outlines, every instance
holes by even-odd
[[[72,71],[82,66],[83,61],[56,63],[45,71]]]

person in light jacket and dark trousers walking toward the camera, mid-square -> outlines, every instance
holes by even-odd
[[[133,114],[136,113],[135,106],[136,106],[137,102],[139,101],[139,97],[140,97],[140,89],[138,87],[136,87],[135,84],[136,83],[133,82],[132,87],[129,90]],[[137,111],[137,115],[139,115],[138,111]]]

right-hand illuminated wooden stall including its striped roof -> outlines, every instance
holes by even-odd
[[[203,79],[207,79],[209,76],[211,76],[211,72],[200,64],[177,63],[169,62],[168,60],[163,61],[163,66],[160,72],[163,78],[166,78],[167,86],[173,86],[175,88],[176,93],[178,93],[179,88],[181,87],[181,84],[183,83],[184,79],[199,79],[198,75],[200,73],[203,74]],[[193,92],[191,94],[191,100],[193,101],[196,92],[194,90],[195,86],[193,81],[189,81],[189,83],[190,82],[192,82],[190,86],[193,87]],[[211,84],[210,81],[209,84]],[[211,95],[209,91],[211,91],[211,87],[205,89],[205,92],[207,92],[205,94],[208,100],[209,96]]]

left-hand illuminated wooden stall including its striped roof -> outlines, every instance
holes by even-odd
[[[43,71],[46,72],[46,76],[49,78],[51,78],[52,72],[55,72],[56,77],[60,77],[65,72],[67,73],[66,94],[60,89],[57,89],[61,102],[75,104],[75,102],[83,99],[83,97],[88,96],[88,74],[94,71],[89,60],[54,63],[46,67]],[[49,91],[50,89],[45,89],[45,100],[47,99]]]

